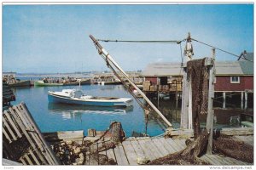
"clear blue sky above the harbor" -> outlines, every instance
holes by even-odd
[[[89,35],[99,39],[182,40],[233,54],[253,52],[253,4],[3,5],[3,71],[105,71]],[[181,62],[177,44],[101,42],[125,71]],[[182,48],[184,47],[182,43]],[[211,48],[193,42],[195,59]],[[236,60],[217,51],[217,60]]]

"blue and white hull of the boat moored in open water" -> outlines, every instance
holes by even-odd
[[[48,93],[49,103],[62,103],[72,105],[94,105],[94,106],[107,106],[107,107],[128,107],[131,106],[131,100],[128,101],[106,101],[104,99],[74,99],[66,96],[60,96]]]

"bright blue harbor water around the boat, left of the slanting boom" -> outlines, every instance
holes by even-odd
[[[146,123],[143,109],[133,101],[131,108],[110,108],[110,107],[88,107],[79,105],[56,105],[48,103],[48,91],[61,91],[64,88],[78,88],[75,86],[59,87],[32,87],[13,88],[16,101],[26,103],[34,120],[42,132],[55,132],[67,130],[84,130],[87,134],[88,128],[106,130],[113,121],[121,122],[127,136],[132,131],[147,133],[150,136],[164,133],[163,125],[154,117]],[[81,86],[86,94],[93,96],[128,97],[131,94],[125,91],[122,85],[88,85]]]

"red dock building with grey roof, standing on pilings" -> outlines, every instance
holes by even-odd
[[[246,59],[215,62],[214,102],[218,102],[219,107],[225,109],[240,105],[241,109],[253,108],[253,53],[247,53]],[[181,63],[151,63],[144,69],[143,77],[143,91],[148,96],[157,98],[159,94],[164,94],[175,99],[181,97]]]

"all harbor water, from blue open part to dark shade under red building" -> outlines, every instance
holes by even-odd
[[[165,132],[166,126],[160,117],[150,113],[148,118],[145,117],[143,109],[133,99],[131,94],[125,91],[122,85],[85,85],[81,86],[85,94],[92,96],[106,97],[125,97],[133,99],[133,106],[129,108],[112,108],[112,107],[93,107],[81,105],[63,105],[48,103],[48,91],[61,91],[64,88],[79,88],[75,86],[59,87],[32,87],[32,88],[13,88],[16,101],[13,105],[21,101],[26,103],[29,111],[37,122],[42,132],[84,130],[87,135],[87,129],[95,128],[103,131],[108,129],[113,121],[121,122],[126,136],[131,136],[132,132],[147,133],[150,136],[159,135]],[[232,99],[232,103],[239,104],[239,97]],[[154,100],[157,105],[157,100]],[[253,105],[248,105],[247,111],[239,109],[236,104],[234,108],[219,109],[221,101],[216,100],[213,106],[215,117],[214,127],[239,127],[241,113],[250,112],[253,114]],[[231,105],[232,106],[232,105]],[[174,99],[160,99],[160,111],[172,123],[175,128],[179,127],[181,114],[181,101],[176,104]],[[233,107],[233,106],[232,106]],[[201,116],[201,127],[206,127],[207,115]]]

